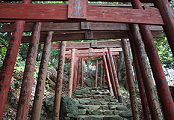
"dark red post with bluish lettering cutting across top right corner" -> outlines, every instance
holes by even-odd
[[[163,29],[174,56],[174,13],[168,0],[153,0],[164,21]],[[172,110],[172,109],[171,109]]]

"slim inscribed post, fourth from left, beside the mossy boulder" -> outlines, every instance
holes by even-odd
[[[56,88],[55,88],[53,120],[59,120],[59,110],[60,110],[60,102],[61,102],[62,81],[63,81],[63,71],[64,71],[64,61],[65,61],[65,50],[66,50],[66,41],[62,41],[60,54],[59,54],[59,64],[58,64],[57,80],[56,80]]]

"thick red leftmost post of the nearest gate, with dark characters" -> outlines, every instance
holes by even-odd
[[[24,4],[30,4],[31,0],[23,0]],[[12,78],[12,73],[14,69],[14,65],[16,62],[16,57],[18,54],[19,46],[21,43],[23,31],[25,27],[25,21],[17,20],[15,22],[15,27],[13,29],[10,42],[7,48],[6,56],[3,62],[3,66],[1,68],[0,73],[0,119],[2,119],[5,103],[8,96],[8,91],[10,87],[10,82]]]

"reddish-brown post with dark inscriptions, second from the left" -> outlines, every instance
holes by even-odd
[[[28,117],[41,24],[41,22],[36,22],[33,27],[18,103],[17,120],[26,120]]]

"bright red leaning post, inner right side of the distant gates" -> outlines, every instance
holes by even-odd
[[[107,50],[107,48],[106,48],[106,50]],[[115,80],[114,80],[114,75],[113,75],[113,71],[112,71],[112,66],[111,66],[111,61],[110,61],[110,58],[109,58],[108,50],[106,52],[106,57],[107,57],[107,61],[108,61],[108,68],[109,68],[109,74],[110,74],[110,77],[111,77],[112,89],[113,89],[115,98],[118,98],[117,87],[115,85]]]

